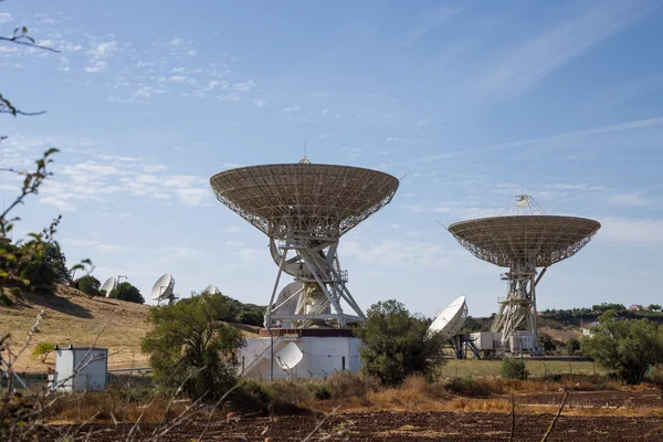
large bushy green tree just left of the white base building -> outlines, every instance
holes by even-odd
[[[155,380],[182,387],[190,397],[218,398],[235,382],[236,352],[242,332],[227,323],[235,316],[228,297],[203,293],[150,309],[152,329],[141,343]]]

